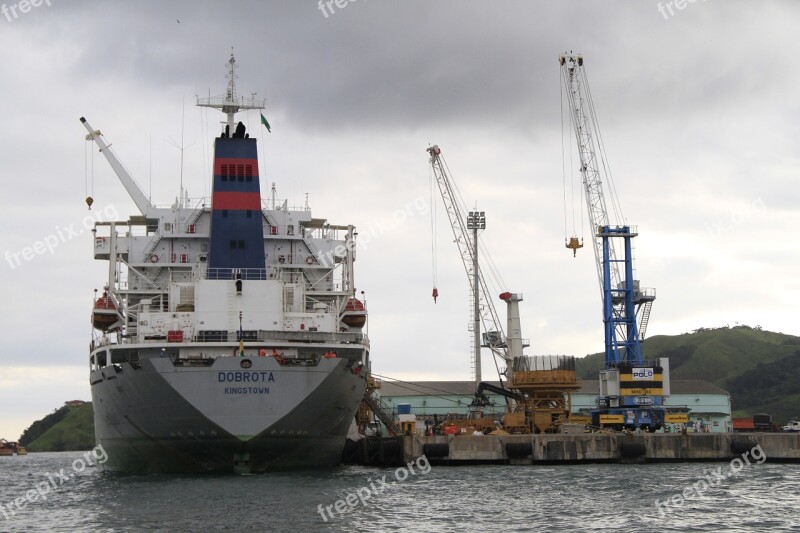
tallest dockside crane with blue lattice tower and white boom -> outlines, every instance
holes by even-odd
[[[631,241],[638,233],[635,226],[625,223],[619,208],[583,56],[564,53],[559,63],[594,232],[592,244],[603,306],[605,370],[600,372],[600,397],[598,409],[592,412],[593,424],[655,430],[664,423],[663,397],[669,395],[667,360],[645,361],[642,353],[655,290],[641,288],[634,279]],[[614,224],[604,188],[618,220]],[[582,243],[573,236],[566,246],[575,255]]]

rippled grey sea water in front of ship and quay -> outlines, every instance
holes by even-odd
[[[0,457],[0,532],[800,531],[800,465],[769,458],[256,476],[127,476],[101,459]]]

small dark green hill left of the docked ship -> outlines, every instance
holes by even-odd
[[[92,404],[64,405],[26,429],[20,443],[31,452],[90,450],[95,446]]]

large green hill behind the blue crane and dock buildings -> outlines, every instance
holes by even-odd
[[[730,392],[737,413],[800,417],[800,337],[735,326],[657,335],[642,346],[646,360],[669,358],[671,379],[702,379]],[[583,379],[597,379],[603,367],[602,353],[576,362]]]

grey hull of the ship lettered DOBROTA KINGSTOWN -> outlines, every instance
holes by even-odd
[[[261,473],[332,467],[366,387],[347,359],[168,358],[91,372],[104,467],[126,473]]]

